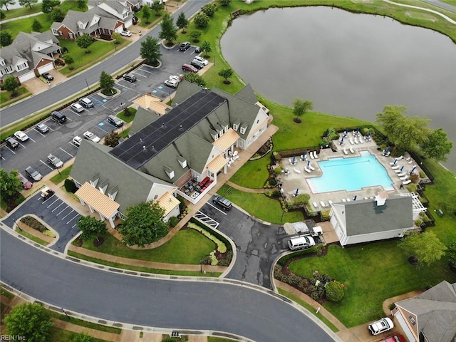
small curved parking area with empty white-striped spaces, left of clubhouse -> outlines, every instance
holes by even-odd
[[[27,214],[35,214],[46,224],[58,232],[58,240],[53,244],[51,249],[58,252],[65,252],[66,244],[78,234],[79,229],[76,227],[81,214],[70,207],[57,195],[43,201],[41,192],[36,193],[26,202],[24,202],[13,214],[5,219],[8,227],[14,227],[14,222]]]

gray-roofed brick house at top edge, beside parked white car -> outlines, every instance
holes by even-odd
[[[51,31],[58,38],[76,40],[81,34],[110,36],[133,25],[133,6],[128,1],[89,1],[88,11],[69,10],[65,19],[54,22]]]

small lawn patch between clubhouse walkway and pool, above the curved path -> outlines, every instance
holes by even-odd
[[[229,180],[242,187],[259,189],[269,177],[267,166],[270,163],[270,154],[258,160],[246,162]]]

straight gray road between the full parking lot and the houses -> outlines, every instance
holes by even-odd
[[[209,0],[189,0],[185,6],[182,6],[182,8],[177,10],[172,16],[177,19],[177,16],[183,11],[188,18],[209,2]],[[6,126],[21,120],[22,118],[26,118],[28,115],[31,115],[38,110],[48,108],[53,105],[53,103],[58,103],[62,99],[68,98],[69,96],[78,93],[80,90],[84,90],[87,88],[86,79],[89,85],[97,83],[100,81],[101,71],[113,74],[121,68],[128,66],[129,63],[140,56],[141,41],[143,41],[146,36],[158,37],[160,30],[160,26],[155,27],[138,41],[135,41],[135,43],[132,43],[130,46],[111,56],[107,60],[93,66],[93,68],[70,78],[68,81],[63,82],[58,86],[54,86],[51,89],[38,93],[30,98],[26,98],[26,100],[23,100],[20,103],[16,103],[9,108],[1,110],[1,125]]]

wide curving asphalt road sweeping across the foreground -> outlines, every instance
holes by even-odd
[[[161,328],[217,330],[258,342],[336,341],[285,301],[243,286],[164,281],[83,266],[0,232],[1,281],[48,304]]]

